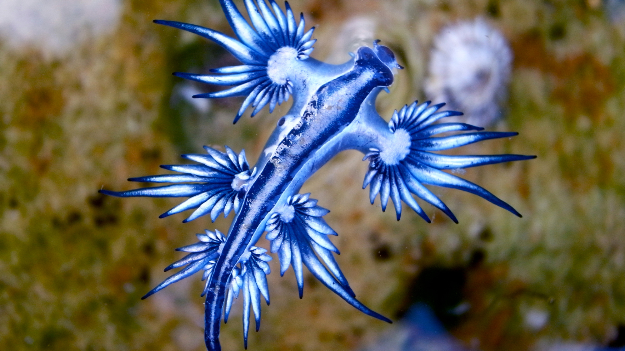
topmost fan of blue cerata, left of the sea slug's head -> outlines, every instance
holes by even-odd
[[[299,24],[297,24],[288,2],[284,2],[286,14],[282,12],[275,1],[269,1],[269,4],[271,7],[267,6],[264,0],[256,3],[252,0],[245,1],[247,13],[254,26],[252,28],[231,1],[222,1],[228,22],[234,29],[239,41],[212,29],[194,26],[193,24],[154,21],[211,39],[243,63],[241,66],[211,69],[211,72],[218,73],[216,75],[174,73],[175,76],[192,81],[218,86],[235,86],[219,92],[193,96],[196,98],[247,96],[236,117],[234,117],[235,123],[250,105],[255,107],[252,111],[253,117],[266,104],[269,104],[269,112],[273,112],[276,104],[287,101],[289,94],[293,93],[293,84],[281,73],[281,67],[272,65],[272,63],[279,61],[281,56],[305,60],[314,50],[312,45],[317,41],[317,39],[311,40],[314,27],[304,32],[304,26],[306,26],[304,14],[300,14]]]

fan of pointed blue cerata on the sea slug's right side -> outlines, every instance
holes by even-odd
[[[516,132],[468,132],[452,136],[434,137],[445,132],[482,131],[484,129],[464,123],[433,124],[444,117],[462,114],[456,111],[436,113],[442,106],[444,104],[430,106],[429,101],[417,105],[415,101],[410,106],[402,107],[399,112],[394,112],[389,122],[389,130],[399,136],[397,137],[399,143],[395,144],[391,150],[381,151],[372,147],[363,159],[363,161],[369,159],[369,171],[364,177],[362,189],[369,185],[371,204],[373,204],[376,195],[379,193],[382,211],[384,211],[386,210],[388,199],[391,197],[395,205],[397,220],[399,220],[401,217],[401,199],[429,223],[429,218],[412,198],[412,193],[441,210],[457,223],[458,220],[449,210],[449,207],[422,185],[429,184],[471,192],[521,217],[521,214],[513,209],[511,205],[506,204],[506,202],[492,195],[486,189],[456,175],[442,172],[441,169],[464,169],[486,164],[534,159],[536,156],[447,156],[430,152],[454,149],[455,147],[465,146],[474,142],[512,137],[518,134]],[[391,155],[385,155],[384,152]],[[397,155],[397,152],[400,155]],[[401,156],[401,160],[397,156]]]

